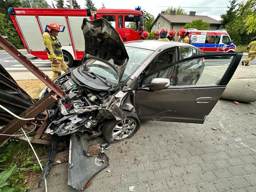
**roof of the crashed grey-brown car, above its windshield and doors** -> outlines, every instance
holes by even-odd
[[[129,41],[124,43],[125,46],[128,47],[136,47],[141,49],[149,49],[152,51],[156,51],[160,47],[163,47],[165,49],[171,48],[171,47],[193,47],[197,49],[194,45],[185,44],[177,41],[167,41],[167,40],[136,40],[136,41]]]

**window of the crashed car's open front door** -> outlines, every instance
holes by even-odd
[[[191,59],[170,65],[142,78],[140,87],[150,85],[152,79],[163,77],[170,79],[172,86],[217,85],[226,72],[234,56],[230,58],[210,57],[207,59]]]

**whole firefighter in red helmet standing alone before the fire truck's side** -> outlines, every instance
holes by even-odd
[[[53,79],[56,79],[58,76],[61,76],[61,69],[64,72],[69,71],[69,67],[64,62],[61,43],[57,39],[59,31],[59,25],[52,22],[48,25],[43,34],[45,50],[47,51],[48,58],[51,61]]]

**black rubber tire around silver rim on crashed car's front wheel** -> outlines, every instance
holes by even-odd
[[[140,128],[140,120],[138,119],[138,116],[136,115],[136,113],[133,111],[123,111],[123,113],[126,116],[126,119],[124,119],[124,120],[132,119],[136,122],[135,129],[133,130],[133,132],[130,135],[128,135],[126,137],[126,138],[131,138],[133,135],[135,135],[135,133]],[[121,120],[121,121],[123,121],[123,120]],[[119,123],[121,123],[121,121],[113,119],[113,120],[106,121],[106,123],[104,123],[103,128],[102,128],[102,133],[103,133],[103,136],[105,137],[106,141],[108,141],[108,143],[118,143],[118,142],[125,140],[125,138],[117,140],[117,139],[114,139],[112,136],[113,129],[115,128],[115,126],[117,126]]]

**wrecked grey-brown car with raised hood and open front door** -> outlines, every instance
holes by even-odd
[[[103,134],[115,143],[133,136],[142,120],[204,123],[243,55],[202,54],[180,42],[123,44],[104,19],[84,19],[82,29],[83,64],[55,80],[67,96],[48,109],[47,133]]]

